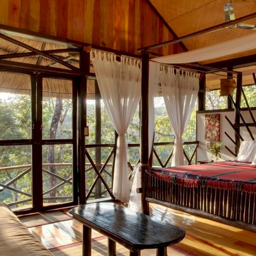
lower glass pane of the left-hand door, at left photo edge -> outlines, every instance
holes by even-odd
[[[31,146],[0,146],[0,201],[11,208],[31,206]]]

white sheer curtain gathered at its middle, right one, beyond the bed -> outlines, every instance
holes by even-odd
[[[164,103],[175,135],[172,166],[184,165],[182,134],[199,90],[199,74],[161,66],[159,75]]]

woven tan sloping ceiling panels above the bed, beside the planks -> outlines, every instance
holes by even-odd
[[[178,37],[224,23],[225,16],[223,6],[224,3],[229,3],[228,0],[150,0],[150,2]],[[256,0],[233,0],[232,3],[236,18],[256,11]],[[243,23],[256,25],[256,18],[246,20],[246,22]],[[183,44],[188,50],[194,50],[250,33],[256,33],[256,31],[239,28],[221,29],[184,40]],[[236,56],[227,56],[210,61],[204,61],[202,63],[210,63],[255,53],[256,49],[237,54]]]

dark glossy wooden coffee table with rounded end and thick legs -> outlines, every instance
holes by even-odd
[[[116,255],[116,242],[140,255],[142,249],[157,248],[157,255],[167,255],[166,246],[180,242],[183,228],[139,214],[114,203],[89,203],[69,211],[83,224],[82,254],[91,256],[92,229],[108,237],[109,255]]]

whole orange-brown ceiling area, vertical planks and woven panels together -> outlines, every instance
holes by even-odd
[[[138,48],[172,40],[225,22],[228,0],[1,0],[1,24],[139,54]],[[236,18],[256,10],[256,0],[233,0]],[[256,24],[256,18],[244,23]],[[174,33],[172,33],[174,32]],[[214,45],[249,33],[221,29],[184,40],[187,50]],[[182,44],[153,50],[161,55],[186,50]],[[205,61],[216,62],[256,54],[256,49]]]

